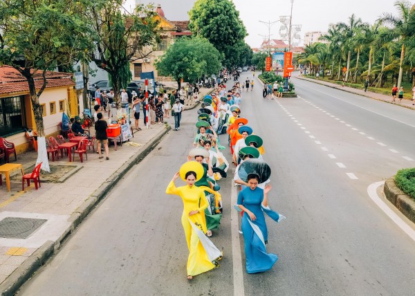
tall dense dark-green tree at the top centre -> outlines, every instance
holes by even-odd
[[[225,55],[225,62],[232,58],[232,47],[247,35],[239,12],[230,0],[197,0],[189,16],[192,35],[208,39]]]

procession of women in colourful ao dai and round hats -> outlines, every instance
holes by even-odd
[[[219,228],[223,214],[219,181],[228,176],[230,167],[223,155],[226,147],[230,147],[232,164],[237,166],[233,183],[239,187],[239,194],[234,208],[242,212],[246,270],[264,272],[278,259],[266,252],[268,231],[264,212],[277,222],[285,217],[268,206],[270,167],[263,159],[263,140],[253,134],[248,119],[241,117],[241,90],[239,82],[228,91],[220,84],[203,98],[202,108],[197,111],[193,148],[166,189],[167,194],[176,194],[183,200],[181,223],[189,249],[187,279],[218,267],[223,256],[209,237],[212,230]],[[222,133],[228,136],[221,140],[228,141],[221,145]],[[176,187],[178,178],[186,185]]]

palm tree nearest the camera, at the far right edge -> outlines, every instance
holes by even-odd
[[[389,39],[400,39],[402,46],[400,48],[400,62],[399,62],[399,75],[398,75],[398,89],[402,84],[403,76],[403,59],[405,58],[405,41],[412,37],[414,34],[414,27],[409,24],[409,17],[414,12],[411,12],[411,3],[409,1],[401,0],[395,2],[395,7],[398,10],[398,16],[394,16],[389,12],[383,13],[383,17],[379,19],[384,24],[390,24],[393,26],[392,30],[388,33]]]

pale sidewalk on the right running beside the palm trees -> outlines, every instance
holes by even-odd
[[[315,80],[315,79],[311,79],[308,77],[302,77],[302,76],[294,76],[294,78],[300,79],[300,80],[307,80],[310,82],[314,82],[317,84],[322,84],[324,86],[329,86],[332,87],[333,89],[340,89],[341,91],[347,91],[348,93],[356,93],[357,95],[362,95],[364,97],[367,98],[371,98],[374,100],[378,100],[378,101],[382,101],[382,102],[387,102],[389,104],[394,104],[394,105],[398,105],[401,107],[405,107],[408,109],[412,109],[415,110],[415,106],[412,105],[412,100],[405,100],[403,99],[402,102],[398,102],[398,96],[396,96],[396,102],[392,102],[392,95],[382,95],[381,93],[374,93],[372,91],[366,91],[364,89],[353,89],[353,87],[349,87],[349,86],[341,86],[339,84],[335,84],[335,83],[331,83],[331,82],[326,82],[323,80]]]

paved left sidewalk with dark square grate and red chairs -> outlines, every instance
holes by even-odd
[[[212,91],[201,89],[199,98]],[[199,103],[187,107],[187,110]],[[49,165],[62,165],[72,169],[63,176],[63,183],[45,183],[35,190],[33,182],[21,191],[21,172],[10,177],[11,192],[6,182],[0,186],[0,294],[14,295],[17,289],[42,266],[77,225],[93,210],[113,186],[133,165],[154,149],[161,138],[174,127],[174,118],[165,118],[167,124],[151,124],[149,129],[140,119],[142,131],[134,129],[133,138],[109,147],[109,160],[98,159],[92,149],[87,151],[88,160],[80,163],[79,156],[74,162],[68,156],[59,158]],[[131,120],[133,125],[133,119]],[[134,126],[134,125],[133,125]],[[14,159],[14,158],[12,158]],[[28,151],[17,156],[25,173],[33,166],[37,152]],[[4,176],[3,176],[4,178]],[[4,220],[6,219],[6,220]]]

